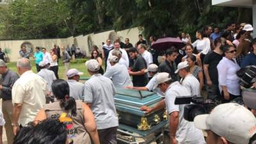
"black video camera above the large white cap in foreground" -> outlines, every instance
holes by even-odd
[[[193,104],[191,104],[193,102]],[[204,97],[189,96],[176,97],[175,104],[187,104],[184,106],[184,119],[193,122],[195,116],[210,113],[216,104],[210,100],[205,100]]]

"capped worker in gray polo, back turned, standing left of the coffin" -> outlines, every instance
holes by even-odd
[[[84,83],[84,102],[95,116],[100,143],[116,144],[118,118],[114,104],[115,87],[111,79],[99,74],[97,60],[88,60],[85,65],[92,77]]]

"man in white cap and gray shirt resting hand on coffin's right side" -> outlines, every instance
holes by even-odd
[[[174,82],[172,77],[166,72],[161,72],[156,76],[155,88],[160,88],[165,93],[165,99],[159,102],[153,110],[166,106],[166,111],[170,115],[170,143],[173,144],[203,144],[204,136],[202,131],[196,129],[193,122],[188,122],[183,118],[184,104],[175,105],[175,99],[179,96],[191,95],[188,88],[182,86],[179,81]],[[164,103],[165,101],[165,103]]]

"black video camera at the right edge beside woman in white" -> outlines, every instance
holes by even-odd
[[[250,88],[255,82],[256,78],[256,65],[241,68],[237,71],[237,76],[240,77],[239,84],[244,88]]]

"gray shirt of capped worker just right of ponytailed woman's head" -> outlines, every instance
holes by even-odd
[[[69,86],[69,95],[76,100],[84,99],[84,84],[79,83],[76,80],[68,79],[67,80]]]

